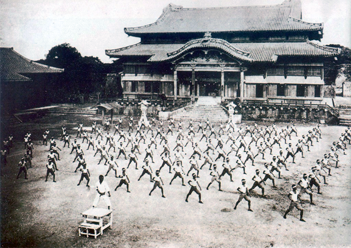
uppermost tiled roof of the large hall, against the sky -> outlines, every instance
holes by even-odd
[[[125,28],[131,36],[150,33],[322,31],[323,24],[307,23],[296,14],[296,1],[281,5],[228,8],[183,8],[169,4],[155,23]],[[301,11],[299,11],[301,13]],[[301,15],[300,15],[301,16]],[[298,19],[296,19],[298,18]]]

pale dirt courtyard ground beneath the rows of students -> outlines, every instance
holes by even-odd
[[[193,193],[189,202],[185,202],[190,186],[187,182],[190,179],[185,176],[186,187],[182,186],[180,178],[169,185],[173,174],[168,173],[167,166],[163,167],[160,176],[164,182],[165,198],[161,197],[160,190],[156,190],[151,196],[148,195],[153,183],[148,175],[139,178],[142,169],[142,160],[145,157],[145,148],[149,144],[140,144],[141,155],[138,157],[138,170],[132,164],[127,169],[130,179],[130,193],[126,187],[122,186],[116,191],[114,188],[119,183],[119,178],[114,177],[114,171],[110,171],[105,180],[111,189],[111,206],[114,209],[114,223],[111,229],[107,229],[102,236],[97,239],[93,237],[78,236],[78,226],[82,222],[81,213],[90,207],[96,195],[95,184],[100,174],[105,175],[108,166],[103,163],[97,165],[100,156],[94,157],[95,151],[91,148],[86,151],[87,144],[82,144],[85,153],[85,160],[91,174],[90,185],[85,186],[83,181],[80,186],[77,183],[80,179],[80,172],[74,173],[77,162],[72,163],[75,152],[70,155],[71,149],[63,148],[60,141],[60,129],[66,125],[68,133],[71,135],[71,142],[76,136],[73,128],[83,122],[85,128],[90,128],[92,121],[101,122],[99,116],[72,116],[72,115],[48,115],[40,119],[28,121],[7,127],[5,135],[14,134],[15,146],[8,156],[8,165],[4,169],[4,176],[1,177],[1,242],[2,247],[350,247],[351,246],[351,155],[350,145],[347,145],[346,155],[339,153],[340,168],[331,169],[331,175],[327,177],[328,185],[321,185],[322,195],[316,194],[313,188],[313,201],[316,205],[309,204],[309,196],[304,194],[302,207],[304,209],[304,219],[299,221],[299,211],[294,209],[283,218],[283,214],[289,206],[287,194],[291,190],[292,184],[302,178],[303,173],[311,173],[317,159],[322,159],[323,154],[329,153],[333,141],[337,141],[341,133],[346,129],[339,126],[321,125],[322,139],[319,143],[313,141],[310,152],[304,149],[304,157],[296,155],[296,164],[288,159],[289,171],[281,169],[282,179],[278,179],[275,172],[275,182],[277,188],[272,187],[270,180],[267,180],[265,194],[261,197],[261,190],[256,188],[251,197],[251,208],[253,212],[247,211],[248,205],[243,200],[236,210],[233,209],[238,200],[237,188],[243,178],[246,179],[248,187],[253,184],[252,177],[255,170],[262,173],[263,164],[271,162],[273,155],[279,153],[279,147],[273,147],[273,155],[266,151],[265,160],[259,155],[255,159],[255,166],[251,166],[249,161],[246,164],[246,173],[238,168],[233,171],[231,182],[228,175],[222,181],[223,192],[218,191],[218,184],[214,182],[209,190],[206,186],[211,181],[209,165],[205,165],[200,170],[198,179],[202,187],[202,201],[198,202],[198,196]],[[135,118],[134,118],[135,119]],[[124,119],[126,126],[127,117]],[[136,122],[135,122],[136,123]],[[177,127],[178,121],[176,121]],[[244,128],[249,122],[239,125]],[[272,123],[268,123],[271,125]],[[251,127],[253,122],[250,122]],[[259,127],[265,127],[267,123],[259,123]],[[278,129],[285,128],[287,123],[277,123]],[[167,130],[167,122],[164,129]],[[185,130],[189,126],[184,122]],[[198,122],[194,121],[195,130],[198,130]],[[295,144],[302,135],[306,135],[308,130],[315,127],[315,123],[296,124],[298,137],[291,136],[291,142],[295,150]],[[56,171],[56,183],[49,176],[45,182],[47,155],[49,146],[41,144],[42,134],[46,129],[50,130],[50,137],[54,136],[57,146],[62,149],[60,161],[57,161],[59,171]],[[216,125],[218,130],[218,124]],[[19,168],[17,166],[20,158],[24,155],[23,138],[30,131],[34,141],[33,168],[28,170],[28,180],[22,174],[16,179]],[[126,131],[126,129],[125,129]],[[114,133],[111,127],[111,133]],[[90,134],[90,132],[89,132]],[[105,134],[105,132],[104,132]],[[135,130],[133,132],[135,134]],[[175,132],[174,132],[175,134]],[[93,135],[95,138],[96,135]],[[149,139],[150,133],[147,134]],[[175,135],[168,135],[170,150],[175,147]],[[118,139],[118,134],[115,139]],[[201,139],[201,134],[196,133],[195,142]],[[223,136],[224,141],[227,135]],[[78,138],[81,144],[82,139]],[[213,139],[214,140],[214,139]],[[245,137],[250,142],[249,136]],[[163,151],[159,146],[153,149],[154,162],[151,163],[153,171],[161,165],[160,153]],[[183,141],[186,142],[186,139]],[[105,138],[103,140],[105,144]],[[217,143],[214,143],[217,145]],[[185,145],[185,144],[184,144]],[[202,151],[206,150],[204,142],[199,142]],[[287,145],[282,144],[284,156]],[[108,146],[107,146],[108,148]],[[127,147],[127,156],[130,154],[130,145]],[[229,143],[224,145],[224,151],[229,152]],[[110,150],[111,152],[111,150]],[[117,152],[117,149],[116,149]],[[256,147],[253,148],[257,153]],[[190,168],[188,163],[193,149],[188,145],[184,150],[184,170]],[[111,154],[111,153],[110,153]],[[115,154],[115,153],[112,153]],[[240,154],[245,159],[243,150]],[[115,155],[118,155],[115,154]],[[217,158],[217,153],[210,155]],[[115,156],[116,157],[116,156]],[[236,161],[235,153],[229,155],[231,164]],[[173,153],[171,153],[173,161]],[[117,163],[119,165],[118,175],[121,168],[126,168],[129,160],[121,156]],[[199,165],[203,164],[203,157],[199,160]],[[222,159],[217,161],[218,171],[222,172]],[[195,172],[194,170],[190,173]],[[322,179],[321,179],[322,180]],[[104,201],[100,201],[99,207],[106,207]]]

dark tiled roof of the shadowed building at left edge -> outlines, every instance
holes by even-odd
[[[22,73],[58,73],[64,69],[51,67],[23,57],[12,48],[0,48],[0,81],[29,81]]]

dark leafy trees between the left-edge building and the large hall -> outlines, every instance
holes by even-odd
[[[45,60],[39,60],[49,66],[65,69],[64,73],[54,83],[52,96],[56,102],[79,101],[80,96],[89,98],[92,94],[100,93],[100,97],[116,97],[120,92],[105,94],[105,78],[107,73],[118,73],[122,70],[118,63],[104,64],[98,57],[85,56],[68,43],[57,45],[50,49]],[[117,83],[117,82],[116,82]],[[120,84],[120,83],[119,83]]]

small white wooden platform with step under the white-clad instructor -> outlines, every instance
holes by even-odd
[[[81,234],[94,236],[103,235],[107,227],[112,227],[113,210],[106,208],[90,208],[82,213],[83,222],[78,227]]]

